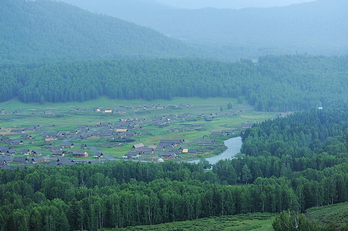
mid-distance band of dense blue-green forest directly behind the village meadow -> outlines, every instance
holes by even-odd
[[[347,102],[348,57],[266,56],[259,63],[201,59],[75,61],[0,67],[5,101],[245,97],[260,111],[302,110]],[[65,83],[65,84],[62,84]]]

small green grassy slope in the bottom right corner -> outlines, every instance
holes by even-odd
[[[320,225],[334,224],[336,228],[348,225],[348,202],[306,210],[306,217]]]

